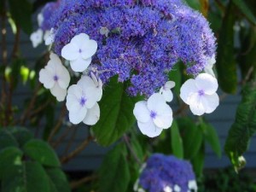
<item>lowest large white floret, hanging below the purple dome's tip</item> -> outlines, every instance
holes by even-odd
[[[154,93],[148,102],[137,102],[133,114],[140,131],[148,137],[159,136],[163,129],[172,125],[172,108],[160,93]]]

